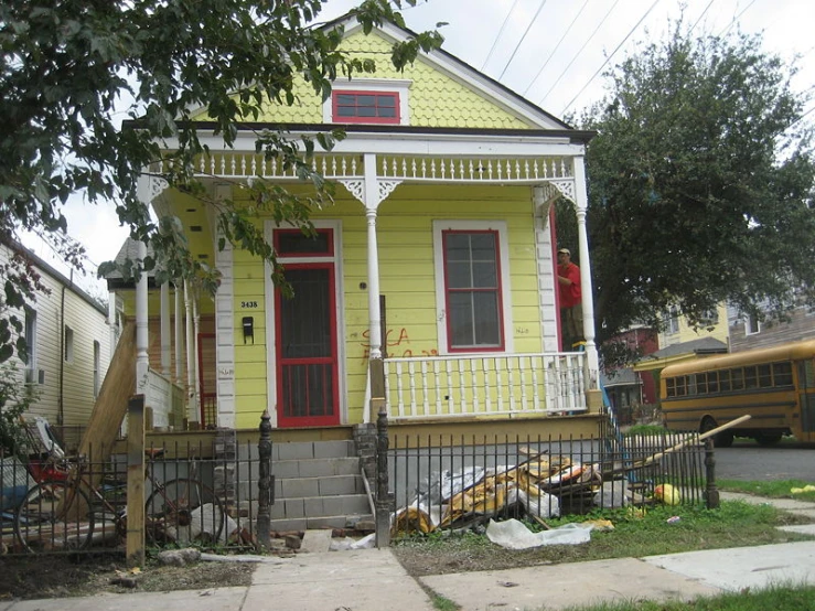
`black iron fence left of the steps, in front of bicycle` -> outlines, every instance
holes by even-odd
[[[229,458],[203,444],[146,449],[148,545],[254,547],[257,444]],[[223,455],[223,452],[222,452]],[[127,534],[127,455],[53,461],[0,459],[2,546],[7,553],[122,551]]]

